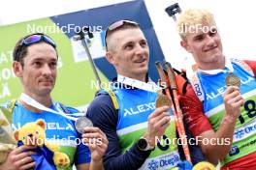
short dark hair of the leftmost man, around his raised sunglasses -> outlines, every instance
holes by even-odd
[[[47,40],[44,40],[44,39],[40,39],[36,42],[30,42],[30,43],[24,42],[27,38],[30,38],[33,35],[46,36],[50,40],[50,42],[48,42]],[[27,35],[27,36],[19,39],[16,42],[15,49],[13,52],[13,60],[16,62],[19,62],[21,64],[21,66],[23,67],[24,57],[27,55],[27,47],[34,43],[42,43],[42,42],[50,44],[55,49],[56,54],[57,54],[56,45],[48,35],[45,35],[43,33],[34,33],[34,34]],[[58,55],[57,55],[57,57],[58,57]]]

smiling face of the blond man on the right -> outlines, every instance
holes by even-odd
[[[201,69],[211,69],[224,58],[222,43],[217,29],[212,24],[203,24],[202,29],[187,34],[182,46],[190,52]]]

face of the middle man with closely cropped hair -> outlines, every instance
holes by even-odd
[[[137,78],[145,75],[149,60],[149,49],[144,33],[139,28],[118,30],[110,40],[110,50],[107,52],[109,61],[117,73]]]

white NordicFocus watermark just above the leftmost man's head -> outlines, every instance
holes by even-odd
[[[85,30],[89,30],[91,33],[101,32],[103,30],[102,26],[78,26],[76,24],[67,24],[67,25],[59,25],[59,23],[52,24],[52,25],[37,25],[37,24],[27,24],[26,25],[26,32],[27,33],[80,33],[84,32]]]

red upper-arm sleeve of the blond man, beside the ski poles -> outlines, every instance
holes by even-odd
[[[194,136],[211,128],[208,117],[203,112],[203,103],[198,99],[190,84],[185,95],[179,97],[185,123]]]

